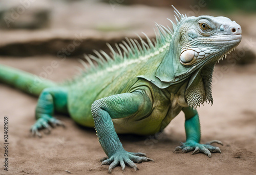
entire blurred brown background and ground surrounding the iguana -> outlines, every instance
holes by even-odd
[[[224,146],[211,159],[173,153],[185,141],[184,115],[179,114],[161,138],[121,137],[125,149],[155,160],[139,164],[136,174],[255,174],[255,0],[1,0],[0,64],[58,82],[71,78],[78,73],[74,67],[82,67],[77,60],[83,54],[110,52],[106,42],[115,46],[125,37],[138,38],[136,34],[145,39],[141,32],[154,38],[155,22],[171,26],[166,19],[175,19],[171,5],[188,16],[226,16],[242,27],[240,45],[215,68],[214,104],[198,107],[201,143],[218,139]],[[11,174],[108,174],[108,166],[100,166],[105,155],[94,129],[57,116],[67,129],[52,129],[42,139],[29,137],[37,99],[3,84],[0,89],[0,118],[10,118]],[[126,167],[125,173],[135,172]]]

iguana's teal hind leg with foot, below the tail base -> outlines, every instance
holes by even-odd
[[[65,88],[53,87],[47,88],[41,92],[35,110],[36,122],[31,126],[31,133],[41,137],[39,129],[46,128],[49,133],[51,126],[62,125],[63,122],[53,117],[55,112],[68,114],[67,107],[68,91]]]

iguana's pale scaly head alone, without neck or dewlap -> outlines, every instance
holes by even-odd
[[[179,25],[180,63],[207,64],[223,58],[241,41],[241,27],[227,17],[187,17]]]

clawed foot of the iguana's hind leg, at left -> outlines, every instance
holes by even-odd
[[[54,118],[54,117],[50,117],[50,116],[42,116],[41,118],[39,118],[35,124],[33,124],[30,128],[30,132],[33,136],[38,136],[38,137],[42,137],[42,135],[39,133],[38,130],[40,129],[47,129],[47,132],[45,132],[45,134],[50,134],[51,133],[51,129],[52,127],[56,127],[56,126],[63,126],[65,127],[65,124]]]

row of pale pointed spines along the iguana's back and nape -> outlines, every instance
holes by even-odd
[[[176,30],[177,25],[179,25],[180,21],[187,17],[186,14],[185,16],[183,14],[181,15],[180,12],[174,6],[173,8],[175,9],[174,12],[179,18],[178,20],[177,16],[175,15],[177,24],[174,24],[172,20],[167,18],[170,21],[170,23],[172,23],[173,29],[170,29],[168,26],[164,27],[162,25],[158,25],[156,23],[156,27],[158,29],[158,33],[154,29],[156,39],[151,40],[144,32],[142,32],[142,34],[146,37],[147,43],[139,35],[137,36],[141,43],[139,43],[137,39],[125,37],[125,40],[122,40],[121,43],[119,43],[119,45],[115,43],[117,51],[115,51],[109,43],[106,43],[106,45],[111,51],[110,55],[102,50],[100,50],[99,52],[93,50],[96,56],[91,54],[84,54],[84,59],[90,64],[90,68],[85,61],[80,59],[79,62],[81,62],[82,66],[85,69],[83,72],[86,73],[82,74],[82,76],[86,76],[90,73],[97,72],[101,69],[111,67],[111,65],[118,64],[126,59],[136,59],[140,56],[145,56],[158,50],[162,46],[166,45],[166,43],[169,43],[174,35],[174,31]],[[96,64],[92,60],[94,60]],[[79,72],[81,72],[80,69]],[[73,81],[77,79],[79,80],[79,76],[73,79]],[[72,83],[73,81],[69,81],[68,83]]]

